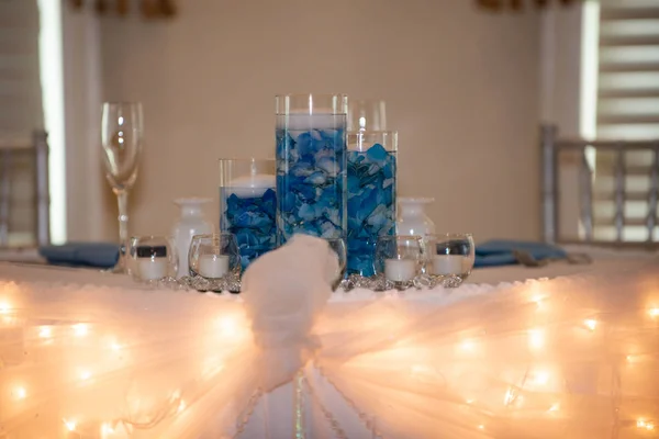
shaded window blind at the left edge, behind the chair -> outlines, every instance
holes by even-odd
[[[33,132],[44,126],[38,37],[37,0],[0,0],[0,247],[36,238]]]

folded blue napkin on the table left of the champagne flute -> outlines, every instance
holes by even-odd
[[[119,245],[68,243],[63,246],[40,247],[38,252],[54,266],[111,268],[119,259]]]

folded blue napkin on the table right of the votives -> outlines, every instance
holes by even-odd
[[[498,267],[518,263],[514,251],[524,251],[534,259],[562,259],[567,254],[560,247],[549,244],[523,240],[496,239],[476,246],[474,267]]]

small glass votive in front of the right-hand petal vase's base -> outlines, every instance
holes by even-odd
[[[424,245],[421,236],[380,236],[376,245],[376,272],[393,282],[407,282],[421,273]]]

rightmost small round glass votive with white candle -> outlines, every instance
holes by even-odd
[[[426,235],[426,272],[433,277],[457,277],[465,281],[476,260],[471,234]]]

